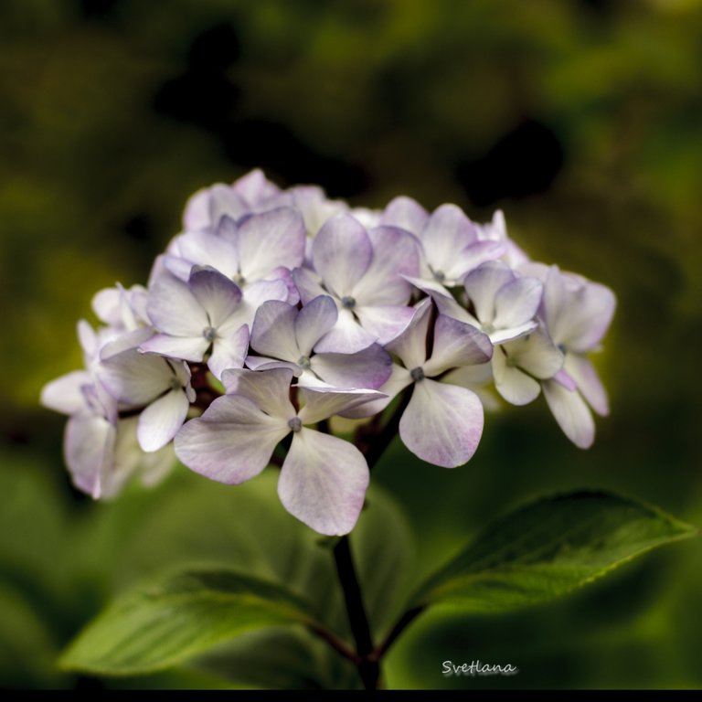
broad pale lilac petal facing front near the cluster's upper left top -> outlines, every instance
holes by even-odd
[[[239,265],[247,281],[267,277],[279,266],[296,268],[304,258],[306,230],[302,215],[279,207],[253,215],[239,225]]]

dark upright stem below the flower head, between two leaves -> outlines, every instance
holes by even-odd
[[[370,633],[370,624],[368,623],[366,608],[363,604],[361,588],[356,576],[356,568],[354,567],[351,546],[347,536],[341,537],[336,544],[334,559],[336,573],[341,583],[341,589],[344,592],[348,622],[356,642],[358,675],[361,676],[363,685],[367,690],[375,690],[378,688],[380,681],[380,665],[378,660],[371,660],[370,658],[374,650],[373,638]]]

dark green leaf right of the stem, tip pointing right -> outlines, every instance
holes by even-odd
[[[410,608],[452,603],[464,612],[514,610],[558,597],[651,548],[696,533],[626,497],[558,495],[489,528],[420,587]]]

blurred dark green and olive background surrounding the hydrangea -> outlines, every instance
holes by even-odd
[[[155,490],[92,504],[69,486],[63,418],[37,405],[48,379],[80,366],[75,323],[91,319],[92,294],[145,282],[186,197],[256,166],[354,205],[407,194],[477,220],[502,207],[535,259],[619,300],[597,358],[612,415],[595,446],[571,446],[539,400],[488,417],[456,471],[394,447],[374,480],[414,541],[371,533],[378,568],[401,562],[411,583],[486,520],[571,487],[611,488],[702,525],[702,3],[4,0],[0,686],[351,684],[283,633],[245,642],[227,675],[206,665],[115,682],[55,667],[113,593],[178,559],[302,568],[274,548],[270,480],[261,496],[180,469]],[[548,607],[424,615],[389,654],[386,682],[700,687],[700,612],[692,539]],[[277,673],[258,673],[251,661],[271,655]],[[520,673],[441,675],[444,660],[478,658]]]

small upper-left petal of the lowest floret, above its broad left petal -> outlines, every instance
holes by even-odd
[[[282,417],[287,421],[296,415],[290,401],[292,370],[287,368],[265,371],[246,368],[230,369],[222,374],[222,382],[228,394],[241,395],[250,399],[272,417]]]

